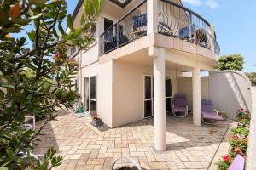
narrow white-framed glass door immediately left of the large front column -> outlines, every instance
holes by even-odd
[[[153,116],[152,76],[144,76],[144,117]]]

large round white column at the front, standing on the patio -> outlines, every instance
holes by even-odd
[[[154,57],[154,147],[166,150],[165,51]]]

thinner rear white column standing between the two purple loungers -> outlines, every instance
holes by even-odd
[[[200,68],[193,68],[193,122],[196,126],[201,126],[201,75]]]

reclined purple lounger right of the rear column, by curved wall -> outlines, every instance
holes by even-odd
[[[205,120],[211,120],[213,122],[206,122]],[[201,100],[201,121],[205,124],[216,124],[218,121],[223,121],[222,116],[218,115],[218,111],[213,108],[212,100]]]

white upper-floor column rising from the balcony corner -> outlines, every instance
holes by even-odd
[[[157,22],[158,22],[158,0],[148,0],[147,1],[147,35],[157,32]]]

